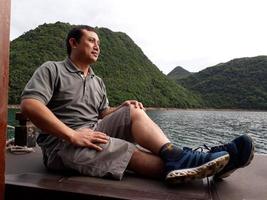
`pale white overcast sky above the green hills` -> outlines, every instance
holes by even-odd
[[[266,0],[12,0],[11,40],[57,21],[129,35],[165,74],[267,55]]]

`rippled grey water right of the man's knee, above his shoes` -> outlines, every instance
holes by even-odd
[[[208,146],[250,135],[257,153],[267,153],[267,112],[150,110],[147,114],[179,147]]]

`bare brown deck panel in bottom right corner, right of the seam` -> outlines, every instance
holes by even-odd
[[[214,200],[267,199],[267,155],[256,155],[251,164],[221,182],[211,182]]]

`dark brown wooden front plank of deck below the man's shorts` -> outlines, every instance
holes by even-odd
[[[30,173],[11,174],[6,177],[7,197],[10,197],[10,199],[16,199],[17,197],[29,199],[31,190],[46,190],[51,194],[61,193],[62,195],[71,193],[77,194],[79,197],[93,199],[209,199],[208,190],[202,181],[170,187],[162,181],[144,179],[133,175],[127,175],[122,181],[78,176],[60,178],[59,176]],[[19,190],[22,190],[21,188],[23,188],[23,194],[18,193]]]

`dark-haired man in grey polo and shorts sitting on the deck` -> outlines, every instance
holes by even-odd
[[[250,138],[243,142],[250,147],[246,154],[243,144],[233,142],[207,153],[179,149],[146,115],[142,103],[128,100],[109,107],[105,85],[90,67],[100,53],[95,30],[76,26],[66,45],[68,58],[44,63],[22,93],[22,112],[42,130],[37,142],[48,169],[119,180],[128,169],[176,183],[225,175],[250,162]],[[229,146],[235,151],[228,152]],[[246,163],[236,162],[239,156]]]

